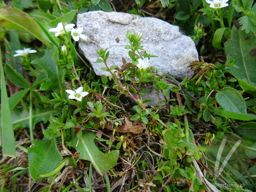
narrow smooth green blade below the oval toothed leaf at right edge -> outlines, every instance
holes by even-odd
[[[241,113],[235,113],[232,111],[221,110],[221,109],[214,109],[214,113],[216,115],[237,119],[237,120],[242,120],[242,121],[252,121],[256,119],[256,115],[254,114],[241,114]]]

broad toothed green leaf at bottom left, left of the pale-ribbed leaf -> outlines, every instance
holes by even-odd
[[[28,148],[28,169],[33,180],[38,181],[43,177],[39,174],[50,173],[61,161],[55,140],[34,140],[34,146]]]

